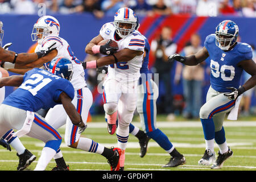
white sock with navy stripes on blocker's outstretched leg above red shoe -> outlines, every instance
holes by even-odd
[[[82,137],[79,138],[77,148],[97,154],[102,154],[102,152],[104,151],[104,146],[102,146],[102,144],[94,142],[92,139]]]

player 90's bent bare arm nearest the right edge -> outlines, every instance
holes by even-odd
[[[256,63],[253,60],[244,60],[238,65],[251,75],[249,80],[242,85],[245,91],[253,88],[256,85]]]

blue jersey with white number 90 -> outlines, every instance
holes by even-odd
[[[214,34],[208,35],[204,46],[210,58],[210,85],[218,92],[230,92],[226,87],[238,88],[243,69],[238,63],[250,60],[253,56],[251,47],[246,43],[237,42],[230,51],[222,51],[216,46]]]

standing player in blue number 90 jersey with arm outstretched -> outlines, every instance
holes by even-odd
[[[224,20],[216,27],[215,34],[208,35],[204,48],[195,55],[186,57],[171,55],[169,61],[179,61],[185,65],[197,65],[210,57],[210,88],[207,102],[200,109],[206,150],[200,165],[213,165],[219,169],[224,161],[233,155],[226,143],[223,122],[226,113],[228,119],[236,120],[241,94],[256,85],[256,64],[251,59],[252,49],[246,43],[237,42],[238,26],[232,20]],[[240,86],[242,71],[251,78]],[[218,158],[215,160],[214,140],[218,144]],[[215,161],[214,161],[215,160]]]

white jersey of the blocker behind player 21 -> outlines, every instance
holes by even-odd
[[[76,58],[73,54],[71,47],[69,46],[68,42],[59,36],[47,36],[42,40],[42,43],[38,44],[35,48],[35,52],[39,50],[47,49],[53,43],[56,44],[53,47],[56,47],[58,53],[57,56],[64,56],[68,58],[73,64],[73,76],[71,79],[71,84],[73,85],[75,90],[79,90],[86,86],[85,81],[85,72],[84,68],[82,67],[81,62]],[[49,63],[48,63],[49,64]],[[47,63],[45,64],[47,68]]]

